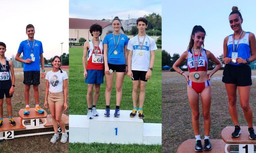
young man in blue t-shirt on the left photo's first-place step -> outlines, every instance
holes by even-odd
[[[43,57],[43,46],[41,41],[34,39],[34,26],[28,24],[26,27],[26,34],[28,39],[20,43],[18,53],[16,54],[15,60],[24,63],[24,81],[25,84],[25,101],[26,109],[24,114],[29,114],[29,90],[30,85],[33,85],[34,98],[35,98],[35,111],[44,113],[43,109],[39,106],[39,91],[38,85],[40,84],[40,61],[42,65],[42,76],[44,79],[44,57]],[[23,59],[19,56],[23,52]]]

